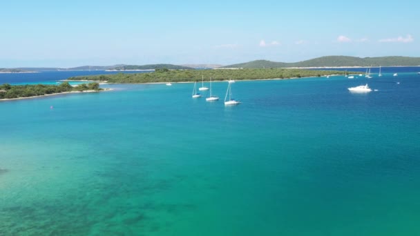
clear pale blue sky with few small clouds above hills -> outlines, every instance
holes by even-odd
[[[8,1],[0,68],[420,56],[419,1]]]

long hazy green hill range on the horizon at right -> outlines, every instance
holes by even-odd
[[[345,66],[420,66],[420,57],[346,57],[327,56],[293,63],[249,61],[224,68],[290,68],[290,67],[345,67]]]

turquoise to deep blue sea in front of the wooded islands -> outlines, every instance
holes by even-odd
[[[106,87],[0,102],[0,235],[420,234],[413,72]]]

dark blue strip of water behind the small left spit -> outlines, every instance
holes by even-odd
[[[124,71],[124,73],[145,73],[150,71]],[[110,75],[117,71],[105,70],[70,70],[70,71],[42,71],[36,73],[0,73],[0,84],[23,84],[55,82],[80,75]]]

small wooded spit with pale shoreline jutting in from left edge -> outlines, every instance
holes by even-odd
[[[82,83],[75,87],[71,86],[67,81],[60,83],[59,85],[35,84],[11,86],[8,83],[3,83],[0,85],[0,99],[19,99],[68,92],[94,92],[101,90],[104,89],[99,88],[99,83]]]

